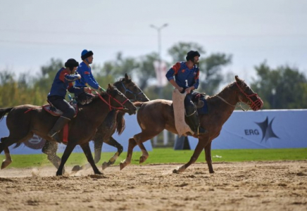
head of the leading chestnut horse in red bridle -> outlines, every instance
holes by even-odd
[[[235,87],[239,89],[238,91],[238,98],[240,102],[246,103],[249,105],[249,107],[256,111],[262,108],[263,101],[258,96],[257,93],[255,93],[242,79],[239,79],[239,77],[236,75],[234,77],[236,79]]]

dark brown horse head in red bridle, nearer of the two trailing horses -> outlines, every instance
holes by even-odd
[[[126,98],[123,93],[116,89],[116,87],[113,87],[113,85],[108,84],[106,95],[108,95],[108,105],[110,106],[110,110],[111,108],[115,108],[128,113],[129,115],[137,113],[137,108],[132,104],[132,102]]]

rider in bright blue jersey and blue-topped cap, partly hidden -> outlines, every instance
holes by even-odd
[[[94,79],[94,76],[92,75],[92,69],[89,66],[93,63],[93,55],[94,53],[92,51],[88,51],[86,49],[81,52],[82,63],[80,63],[79,67],[77,68],[77,72],[81,75],[81,79],[75,82],[75,86],[82,88],[89,85],[90,87],[98,89],[102,92],[105,90],[99,86],[98,82],[96,82],[96,79]],[[75,96],[77,96],[77,101],[85,103],[94,97],[92,94],[85,91],[75,94]]]

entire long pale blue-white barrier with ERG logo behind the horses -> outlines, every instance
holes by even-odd
[[[136,115],[125,115],[126,129],[113,138],[127,151],[128,139],[141,132]],[[8,136],[6,119],[0,122],[0,136]],[[188,137],[189,146],[194,149],[197,139]],[[12,154],[41,153],[44,139],[34,136],[19,148],[11,149]],[[93,151],[94,143],[90,142]],[[151,141],[144,142],[148,151],[152,150]],[[234,111],[223,125],[220,136],[213,140],[213,149],[234,148],[307,148],[307,110],[260,110]],[[65,145],[60,144],[58,152],[63,152]],[[139,151],[139,147],[135,147]],[[116,151],[115,148],[103,145],[103,152]],[[82,152],[80,146],[74,152]]]

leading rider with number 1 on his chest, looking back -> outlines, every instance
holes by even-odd
[[[165,75],[175,89],[178,89],[181,93],[184,91],[187,92],[187,96],[184,98],[187,123],[196,135],[206,134],[208,132],[200,126],[199,115],[192,102],[193,96],[199,94],[199,92],[194,91],[194,89],[199,87],[199,56],[201,55],[198,51],[189,51],[186,57],[187,62],[176,63]]]

